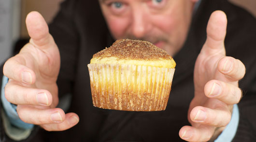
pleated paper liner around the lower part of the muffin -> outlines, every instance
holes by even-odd
[[[174,68],[88,64],[93,105],[127,111],[165,110]]]

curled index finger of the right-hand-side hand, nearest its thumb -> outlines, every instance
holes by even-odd
[[[220,59],[218,70],[225,74],[229,81],[241,80],[245,74],[245,66],[242,61],[232,57]]]

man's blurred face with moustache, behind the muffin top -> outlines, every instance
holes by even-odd
[[[115,39],[149,41],[173,56],[185,42],[192,1],[100,0],[100,7]]]

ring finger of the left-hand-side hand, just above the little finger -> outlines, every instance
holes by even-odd
[[[61,123],[65,120],[65,113],[60,108],[40,109],[18,105],[17,113],[22,121],[36,125]]]

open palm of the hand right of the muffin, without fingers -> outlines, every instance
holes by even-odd
[[[225,48],[220,48],[215,49],[212,53],[207,53],[202,50],[196,60],[194,69],[195,96],[191,101],[188,111],[188,119],[192,125],[195,125],[196,123],[191,121],[190,112],[195,106],[205,106],[215,109],[217,106],[214,104],[216,104],[216,102],[220,102],[217,99],[208,98],[204,93],[204,86],[210,80],[227,82],[225,75],[223,75],[217,68],[219,60],[223,57],[225,57]]]

